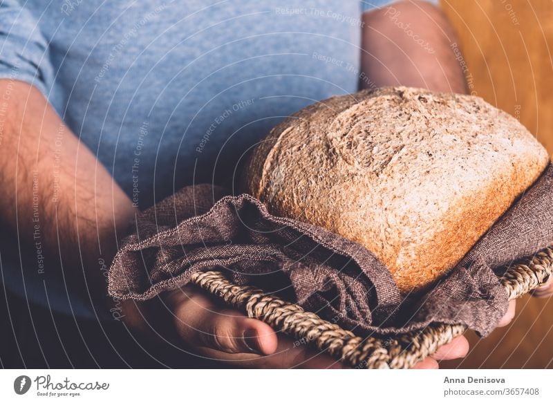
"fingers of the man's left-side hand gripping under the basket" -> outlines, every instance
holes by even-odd
[[[206,357],[253,368],[339,368],[325,353],[279,335],[262,321],[222,308],[212,296],[185,286],[165,301],[180,337]]]

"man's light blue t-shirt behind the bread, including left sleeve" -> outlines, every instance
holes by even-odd
[[[37,86],[143,209],[230,185],[285,116],[357,91],[362,12],[390,2],[3,0],[0,78]],[[12,292],[91,315],[36,259],[1,258]]]

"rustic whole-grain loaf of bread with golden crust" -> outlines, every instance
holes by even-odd
[[[256,147],[243,185],[272,214],[364,245],[410,292],[453,268],[548,162],[480,97],[388,87],[292,115]]]

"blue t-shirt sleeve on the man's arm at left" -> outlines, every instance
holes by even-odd
[[[0,79],[28,82],[48,97],[53,84],[48,42],[17,0],[0,2]]]

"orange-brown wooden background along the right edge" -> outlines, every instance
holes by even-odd
[[[553,153],[553,1],[442,0],[442,8],[476,95],[519,118]],[[553,368],[553,299],[519,299],[509,326],[467,336],[469,355],[442,367]]]

